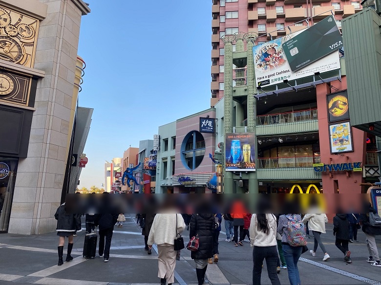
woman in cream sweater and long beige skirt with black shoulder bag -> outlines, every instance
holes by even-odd
[[[177,227],[176,227],[177,225]],[[148,234],[148,248],[157,245],[158,251],[158,274],[160,284],[171,285],[174,282],[174,270],[176,266],[176,254],[174,250],[174,239],[177,233],[182,233],[185,229],[184,219],[181,214],[162,213],[156,214],[151,229]]]

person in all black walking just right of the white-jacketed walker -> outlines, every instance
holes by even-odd
[[[349,251],[349,221],[346,214],[336,214],[333,219],[334,230],[336,236],[335,246],[344,254],[344,261],[352,263],[351,252]]]

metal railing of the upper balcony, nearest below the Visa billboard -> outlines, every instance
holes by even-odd
[[[257,116],[257,125],[292,123],[318,119],[318,110],[305,110],[291,113],[268,114]]]

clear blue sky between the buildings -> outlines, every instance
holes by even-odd
[[[94,112],[79,188],[101,188],[105,161],[153,139],[159,126],[210,108],[212,2],[86,2],[79,106]]]

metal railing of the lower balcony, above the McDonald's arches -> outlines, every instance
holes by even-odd
[[[258,158],[258,168],[313,167],[320,163],[320,156]]]

